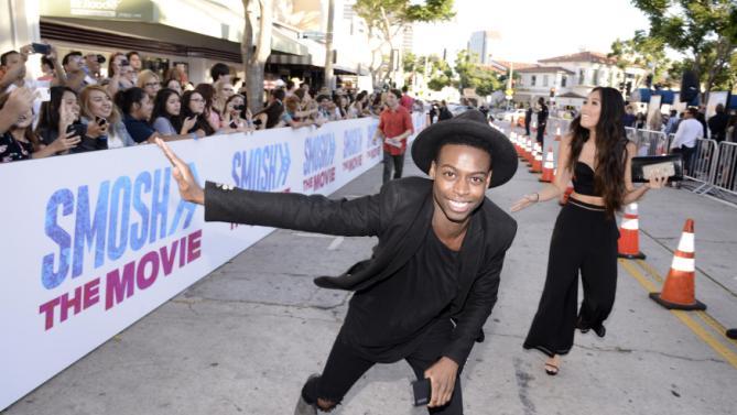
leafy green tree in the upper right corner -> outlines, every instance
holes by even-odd
[[[649,36],[687,54],[690,69],[704,83],[704,101],[730,67],[737,46],[734,0],[632,0],[650,20]]]

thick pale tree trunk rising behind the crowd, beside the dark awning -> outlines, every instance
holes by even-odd
[[[251,112],[261,109],[263,102],[263,73],[267,59],[271,54],[271,25],[273,20],[273,3],[270,0],[242,0],[246,23],[243,37],[240,42],[240,54],[246,73],[246,89],[248,90],[248,107]],[[251,10],[258,3],[259,15]],[[253,42],[253,28],[258,21],[259,36]]]

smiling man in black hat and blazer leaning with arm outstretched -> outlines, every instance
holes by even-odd
[[[392,181],[353,200],[209,182],[203,190],[187,165],[158,143],[174,165],[182,198],[204,205],[207,221],[378,237],[371,259],[343,275],[315,279],[321,287],[355,294],[323,373],[310,376],[295,414],[334,408],[373,364],[402,359],[418,379],[430,379],[431,413],[463,413],[458,374],[496,303],[517,231],[485,197],[514,175],[517,155],[479,111],[419,134],[412,159],[430,179]]]

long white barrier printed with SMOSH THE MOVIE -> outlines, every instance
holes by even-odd
[[[202,184],[329,194],[381,161],[377,123],[171,146]],[[272,231],[205,223],[154,145],[0,165],[0,409]]]

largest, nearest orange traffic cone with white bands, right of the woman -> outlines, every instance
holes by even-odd
[[[706,305],[695,297],[695,271],[694,221],[686,219],[679,249],[673,254],[671,270],[663,284],[663,292],[650,293],[650,298],[668,309],[706,309]]]

